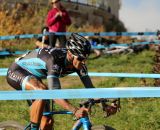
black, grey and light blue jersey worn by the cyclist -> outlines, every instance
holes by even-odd
[[[66,60],[66,54],[67,50],[65,48],[49,47],[28,52],[28,54],[18,58],[15,63],[11,65],[7,77],[22,85],[24,78],[28,75],[32,75],[38,79],[47,78],[51,81],[54,80],[54,78],[64,77],[76,72],[85,86],[90,85],[90,87],[92,87],[93,85],[88,84],[88,81],[83,78],[88,77],[86,65],[84,64],[80,70],[69,68],[68,65],[71,63]],[[53,87],[54,85],[50,84],[49,88]]]

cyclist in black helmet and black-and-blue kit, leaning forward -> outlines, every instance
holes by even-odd
[[[93,88],[87,74],[85,62],[90,54],[91,45],[84,37],[73,33],[68,39],[66,48],[39,48],[18,58],[7,72],[8,83],[16,90],[47,90],[61,89],[60,77],[77,72],[86,88]],[[42,79],[46,78],[46,86]],[[69,101],[54,100],[63,108],[72,111],[77,117],[83,117],[87,109],[77,108]],[[30,111],[31,130],[51,130],[53,119],[42,116],[43,111],[48,111],[46,100],[32,101]]]

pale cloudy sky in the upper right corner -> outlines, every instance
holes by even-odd
[[[160,0],[121,0],[120,20],[129,32],[160,30]]]

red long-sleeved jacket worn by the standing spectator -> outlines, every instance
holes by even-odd
[[[62,17],[55,18],[58,11],[57,8],[53,8],[48,12],[46,24],[49,32],[66,32],[66,26],[71,24],[71,19],[65,9],[61,10]]]

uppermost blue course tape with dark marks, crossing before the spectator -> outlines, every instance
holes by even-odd
[[[43,35],[49,35],[50,33],[46,34],[23,34],[23,35],[10,35],[10,36],[0,36],[0,40],[10,40],[10,39],[23,39],[23,38],[38,38],[42,37]],[[71,35],[72,32],[56,32],[53,33],[54,35]],[[79,32],[78,34],[82,36],[150,36],[160,35],[160,32]]]

